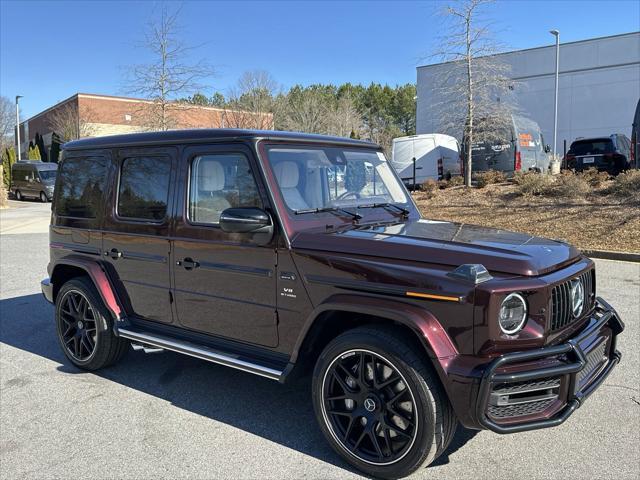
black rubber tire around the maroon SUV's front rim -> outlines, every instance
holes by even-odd
[[[336,357],[349,350],[364,349],[375,352],[390,361],[404,376],[411,389],[418,415],[418,432],[409,452],[400,460],[389,465],[375,465],[353,456],[341,443],[333,438],[330,427],[326,424],[322,409],[323,378],[327,368]],[[356,468],[379,478],[399,478],[409,475],[416,466],[427,458],[435,456],[434,444],[436,428],[435,400],[424,378],[403,359],[402,352],[395,345],[385,344],[381,339],[366,334],[345,334],[330,343],[320,354],[313,372],[312,382],[313,408],[320,429],[333,449]]]

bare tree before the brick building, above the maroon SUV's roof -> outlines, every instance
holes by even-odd
[[[152,20],[141,46],[147,50],[149,63],[130,67],[128,91],[150,100],[137,112],[143,126],[153,130],[169,130],[177,126],[176,99],[203,89],[200,83],[214,74],[204,60],[188,63],[194,46],[187,46],[179,36],[180,10],[168,11],[162,5],[159,18]]]

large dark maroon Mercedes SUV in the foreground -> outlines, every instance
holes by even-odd
[[[62,156],[42,291],[69,361],[133,345],[279,382],[312,370],[320,429],[368,475],[429,464],[458,423],[559,425],[620,360],[590,259],[422,218],[377,145],[194,130]]]

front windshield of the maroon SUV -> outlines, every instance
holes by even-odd
[[[382,152],[340,147],[268,147],[269,162],[294,213],[409,200]]]

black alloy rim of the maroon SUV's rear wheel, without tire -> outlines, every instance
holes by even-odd
[[[79,362],[87,362],[98,341],[96,313],[78,290],[65,292],[60,303],[60,336],[67,354]]]

